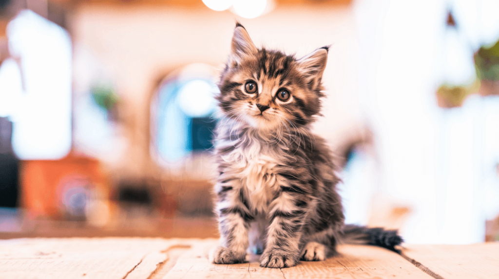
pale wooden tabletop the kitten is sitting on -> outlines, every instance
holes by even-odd
[[[342,245],[340,255],[288,269],[213,265],[216,239],[22,238],[0,240],[1,279],[484,278],[499,279],[499,243],[405,245],[402,255]]]

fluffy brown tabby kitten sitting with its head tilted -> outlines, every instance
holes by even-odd
[[[260,266],[292,267],[322,261],[338,241],[394,250],[396,231],[345,226],[330,151],[310,131],[319,114],[328,47],[296,59],[257,49],[237,23],[217,99],[224,119],[215,150],[215,185],[222,246],[216,264],[245,262],[262,253]]]

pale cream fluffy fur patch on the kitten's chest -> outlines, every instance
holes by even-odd
[[[253,209],[265,212],[278,185],[274,173],[278,160],[270,148],[258,141],[252,141],[245,147],[236,148],[231,153],[222,156],[230,163],[231,174],[246,187],[249,203]]]

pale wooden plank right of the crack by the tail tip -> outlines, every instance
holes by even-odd
[[[499,278],[499,243],[404,247],[404,255],[442,278]]]

